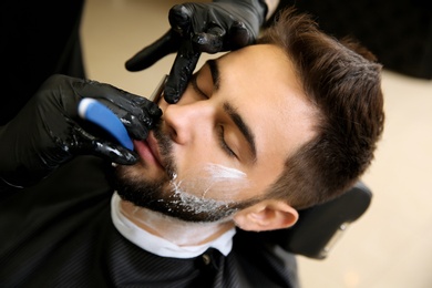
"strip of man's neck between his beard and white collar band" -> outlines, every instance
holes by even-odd
[[[136,207],[125,200],[121,200],[120,207],[121,213],[136,226],[177,246],[202,245],[216,239],[234,227],[232,220],[222,223],[184,222],[157,212]]]

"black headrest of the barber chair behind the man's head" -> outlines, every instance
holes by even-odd
[[[325,259],[347,227],[369,207],[371,191],[358,182],[343,195],[299,212],[291,228],[271,232],[270,239],[296,255]]]

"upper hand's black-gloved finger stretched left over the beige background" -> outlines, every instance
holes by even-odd
[[[133,55],[126,61],[125,68],[136,72],[150,68],[167,54],[174,53],[178,49],[179,35],[173,30],[168,30],[160,39]]]

